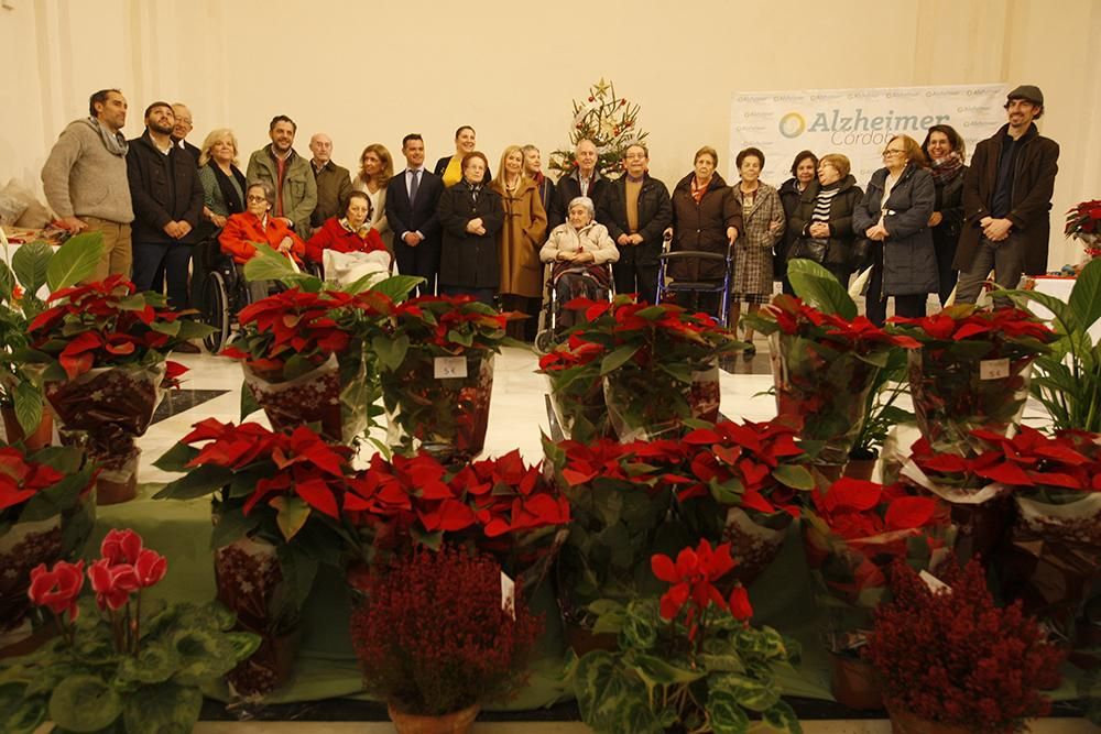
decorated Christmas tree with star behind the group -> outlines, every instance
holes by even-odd
[[[588,139],[597,146],[597,171],[600,175],[618,177],[623,171],[623,151],[646,138],[637,125],[639,109],[637,105],[617,97],[615,86],[601,77],[600,81],[589,87],[588,99],[574,100],[569,147],[552,153],[547,167],[557,171],[559,177],[568,176],[577,167],[574,150],[578,141]]]

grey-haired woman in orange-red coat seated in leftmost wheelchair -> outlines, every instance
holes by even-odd
[[[243,277],[244,263],[257,253],[257,243],[268,244],[301,265],[306,243],[283,219],[271,216],[275,201],[274,187],[265,180],[249,184],[244,198],[246,210],[230,217],[218,235],[221,251],[233,259],[238,273]],[[250,297],[253,300],[266,297],[268,287],[266,281],[250,283]]]

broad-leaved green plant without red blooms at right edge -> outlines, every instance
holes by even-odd
[[[1101,318],[1101,265],[1089,262],[1078,274],[1067,303],[1036,291],[1000,291],[1026,306],[1051,311],[1056,338],[1034,360],[1033,396],[1043,403],[1056,429],[1101,434],[1101,353],[1090,329]]]

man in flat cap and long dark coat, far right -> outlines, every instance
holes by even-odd
[[[1005,111],[1009,122],[975,146],[963,178],[956,303],[973,304],[991,270],[1002,288],[1017,287],[1022,273],[1047,272],[1059,144],[1036,129],[1044,114],[1039,87],[1011,91]]]

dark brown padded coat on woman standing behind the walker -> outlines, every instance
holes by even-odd
[[[673,250],[713,252],[726,254],[730,247],[727,228],[733,227],[741,235],[742,207],[722,176],[715,174],[699,204],[691,195],[693,172],[682,178],[673,189]],[[696,259],[674,260],[669,274],[682,281],[722,278],[726,266],[720,262],[701,262]]]

